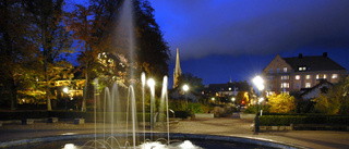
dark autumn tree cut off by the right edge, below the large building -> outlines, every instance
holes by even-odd
[[[349,78],[344,77],[335,84],[327,92],[320,92],[314,99],[315,111],[326,114],[349,113]]]

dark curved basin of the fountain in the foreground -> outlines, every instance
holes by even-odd
[[[137,136],[143,136],[143,134],[136,134]],[[166,138],[167,133],[154,133],[154,134],[145,134],[146,138],[153,135],[155,138]],[[115,137],[122,137],[124,134],[116,134]],[[103,134],[97,134],[97,138],[101,138]],[[93,140],[95,138],[95,134],[86,134],[86,135],[64,135],[64,136],[51,136],[51,137],[43,137],[43,138],[29,138],[22,140],[13,140],[8,142],[0,142],[0,148],[47,148],[45,146],[52,147],[55,142],[57,144],[56,148],[61,149],[64,144],[74,144],[74,141],[86,141]],[[237,137],[237,136],[217,136],[217,135],[201,135],[201,134],[170,134],[170,140],[191,140],[194,145],[200,146],[202,148],[284,148],[284,149],[297,149],[304,148],[297,145],[290,145],[279,141],[274,141],[269,139],[261,139],[261,138],[248,138],[248,137]]]

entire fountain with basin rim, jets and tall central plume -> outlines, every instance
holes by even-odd
[[[120,25],[122,29],[125,29],[129,38],[129,51],[130,51],[130,62],[132,67],[133,60],[133,24],[132,24],[132,5],[131,0],[125,0],[122,7],[121,12],[121,22]],[[118,37],[117,37],[118,38]],[[134,79],[133,76],[135,73],[131,69],[131,79]],[[103,91],[98,90],[98,80],[95,79],[95,95],[94,95],[94,134],[86,135],[68,135],[68,136],[52,136],[45,138],[34,138],[34,139],[24,139],[24,140],[14,140],[9,142],[0,142],[0,147],[8,148],[23,148],[25,142],[25,148],[64,148],[64,149],[127,149],[127,148],[185,148],[194,149],[201,148],[193,145],[192,141],[185,140],[186,138],[196,140],[194,144],[206,144],[203,146],[214,147],[214,148],[230,148],[231,144],[241,142],[243,148],[248,148],[246,144],[253,144],[250,148],[257,148],[261,146],[264,147],[277,147],[277,148],[291,148],[286,145],[278,142],[270,142],[265,140],[256,140],[241,137],[228,137],[228,136],[213,136],[213,135],[196,135],[196,134],[170,134],[169,128],[169,109],[168,109],[168,95],[167,86],[168,78],[164,77],[163,89],[160,97],[160,107],[158,112],[155,112],[155,87],[154,80],[148,78],[144,73],[141,75],[141,87],[142,87],[142,97],[136,99],[134,84],[131,84],[128,87],[128,91],[122,92],[127,94],[125,100],[120,97],[120,87],[117,83],[113,83],[111,88],[106,87]],[[148,87],[147,87],[148,86]],[[149,95],[145,94],[149,90]],[[149,114],[146,115],[145,109],[145,97],[151,96],[149,100]],[[136,107],[137,102],[142,103],[141,107]],[[139,109],[137,109],[139,108]],[[137,112],[141,111],[141,117],[139,117]],[[165,115],[165,116],[164,116]],[[149,117],[146,121],[146,117]],[[137,120],[142,120],[141,123]],[[156,122],[165,125],[165,133],[155,131]],[[101,128],[103,131],[97,131]],[[121,129],[121,132],[120,132]],[[101,133],[100,133],[101,132]],[[72,141],[77,141],[81,138],[86,139],[83,145],[76,147]],[[173,139],[173,140],[172,140]],[[69,141],[67,141],[69,140]],[[201,141],[197,141],[201,140]],[[37,142],[39,145],[34,145]],[[43,142],[48,142],[49,146],[46,146]],[[33,144],[33,145],[32,145]],[[52,144],[58,144],[55,147],[51,147]],[[227,145],[226,145],[227,144]],[[63,146],[62,146],[63,145]],[[32,147],[33,146],[33,147]]]

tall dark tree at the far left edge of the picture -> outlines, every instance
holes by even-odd
[[[10,97],[12,110],[16,108],[17,90],[33,86],[38,66],[37,30],[23,7],[25,2],[0,2],[0,87],[4,90],[1,95]]]

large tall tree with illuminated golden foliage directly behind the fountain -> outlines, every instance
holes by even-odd
[[[128,20],[134,17],[131,30],[135,36],[132,38],[125,29],[131,25],[123,24],[122,2],[89,0],[88,7],[75,5],[76,10],[67,23],[81,44],[79,62],[86,77],[84,92],[87,92],[94,78],[101,76],[103,82],[122,80],[121,84],[128,85],[133,82],[131,74],[140,76],[141,72],[146,72],[147,76],[160,80],[159,76],[168,73],[169,49],[155,22],[154,9],[148,1],[132,1],[133,15],[127,16]],[[134,45],[131,45],[132,39],[136,41]],[[129,51],[131,46],[134,49],[132,54]],[[113,64],[105,63],[109,60]],[[87,96],[84,94],[83,109]]]

